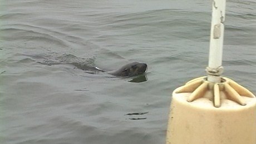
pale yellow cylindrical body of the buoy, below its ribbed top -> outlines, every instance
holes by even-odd
[[[166,144],[256,143],[256,98],[243,97],[246,106],[221,100],[221,107],[216,108],[209,98],[188,102],[191,93],[175,91]]]

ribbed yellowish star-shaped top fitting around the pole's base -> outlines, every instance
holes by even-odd
[[[206,80],[206,77],[195,78],[187,82],[184,86],[179,87],[176,93],[191,93],[187,98],[188,102],[201,97],[208,97],[213,100],[215,107],[221,106],[222,99],[228,99],[244,106],[246,103],[242,96],[255,98],[252,92],[238,85],[233,80],[226,77],[220,78],[220,83],[209,82]],[[208,94],[207,96],[205,95],[206,93]]]

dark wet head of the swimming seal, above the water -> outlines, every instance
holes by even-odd
[[[145,73],[146,69],[146,63],[132,62],[122,66],[120,69],[111,72],[110,74],[114,76],[137,76]]]

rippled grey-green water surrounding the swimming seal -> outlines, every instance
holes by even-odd
[[[253,93],[255,7],[227,1],[223,54],[224,75]],[[164,143],[171,92],[205,75],[210,19],[199,0],[0,0],[1,143]],[[147,81],[66,61],[145,62]]]

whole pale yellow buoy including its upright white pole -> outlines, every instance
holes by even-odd
[[[174,90],[166,144],[256,144],[256,98],[223,73],[225,0],[212,1],[208,76]]]

